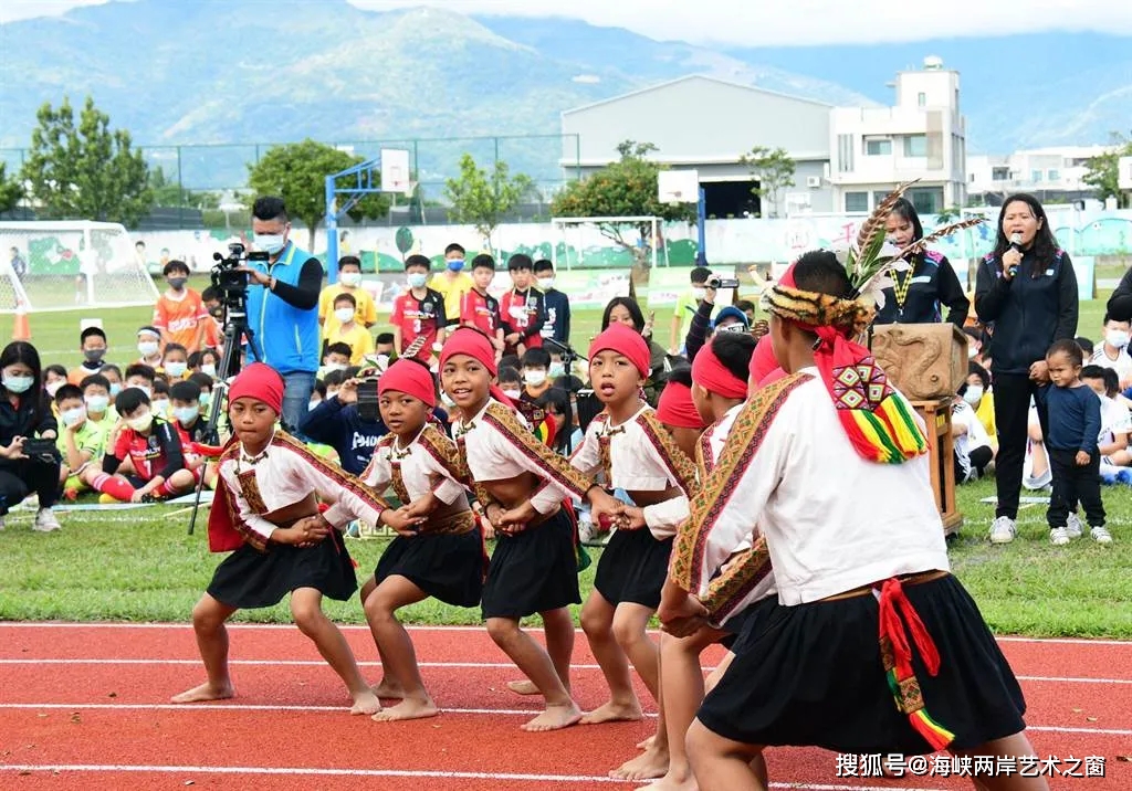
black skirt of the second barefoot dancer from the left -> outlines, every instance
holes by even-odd
[[[421,533],[395,538],[377,561],[374,578],[398,575],[432,599],[454,607],[475,607],[483,593],[483,532]]]

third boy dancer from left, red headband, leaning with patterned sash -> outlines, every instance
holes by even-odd
[[[582,601],[577,526],[564,502],[589,499],[600,518],[617,501],[534,438],[495,386],[495,376],[488,337],[456,329],[440,352],[440,381],[462,415],[453,425],[462,467],[498,538],[482,613],[491,639],[546,699],[546,711],[523,730],[549,731],[582,719],[569,693],[574,624],[567,609]],[[535,612],[542,617],[546,648],[518,627]]]

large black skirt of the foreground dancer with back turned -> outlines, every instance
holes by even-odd
[[[975,602],[953,576],[904,586],[940,652],[932,677],[912,669],[927,713],[966,750],[1026,728],[1026,700]],[[758,607],[757,604],[755,607]],[[700,721],[747,745],[822,747],[874,755],[934,751],[895,705],[878,639],[878,603],[864,595],[774,604],[744,624],[736,659],[700,708]]]

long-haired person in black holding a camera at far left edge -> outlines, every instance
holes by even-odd
[[[51,440],[51,453],[28,456],[33,440]],[[59,530],[51,511],[59,492],[59,454],[53,444],[59,424],[43,390],[40,353],[25,341],[14,341],[0,353],[0,530],[8,510],[35,492],[40,508],[32,530]]]

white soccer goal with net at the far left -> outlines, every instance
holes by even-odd
[[[0,312],[153,304],[157,296],[122,225],[0,222]]]

